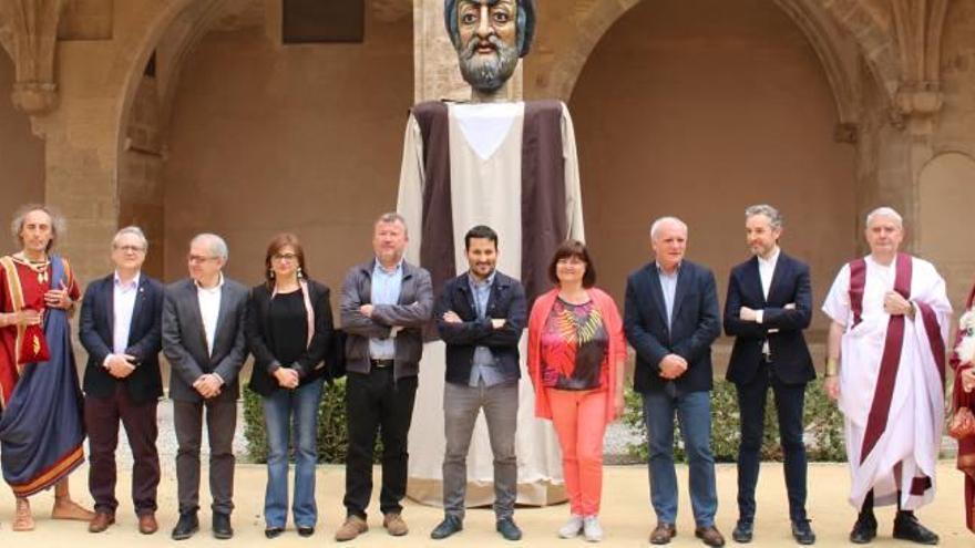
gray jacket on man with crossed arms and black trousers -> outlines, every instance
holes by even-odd
[[[372,298],[372,267],[376,259],[349,269],[342,283],[341,319],[346,338],[346,370],[368,373],[369,339],[389,337],[393,325],[403,329],[396,338],[396,379],[415,376],[423,355],[423,328],[433,312],[433,285],[430,272],[403,261],[403,285],[397,304],[377,304],[372,317],[359,312]]]

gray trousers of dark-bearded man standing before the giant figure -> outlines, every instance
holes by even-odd
[[[497,519],[514,514],[517,498],[517,457],[514,436],[517,428],[517,381],[493,386],[471,387],[444,383],[443,430],[447,451],[443,455],[443,511],[464,518],[468,487],[468,449],[481,409],[488,420],[488,435],[494,453],[494,514]]]

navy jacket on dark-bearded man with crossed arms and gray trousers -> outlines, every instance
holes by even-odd
[[[449,310],[455,312],[463,323],[443,321]],[[478,318],[474,294],[468,272],[451,279],[443,287],[433,318],[440,338],[447,343],[447,382],[468,384],[474,364],[474,349],[486,347],[494,355],[499,371],[507,380],[521,379],[519,341],[527,321],[528,304],[522,283],[495,271],[491,293],[488,297],[486,318]],[[504,327],[494,329],[492,319],[505,320]]]

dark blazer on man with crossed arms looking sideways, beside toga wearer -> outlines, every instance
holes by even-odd
[[[794,304],[794,309],[786,309]],[[763,310],[762,322],[739,319],[741,307]],[[758,271],[758,259],[731,269],[728,299],[725,301],[725,332],[736,337],[728,362],[729,381],[748,384],[761,363],[762,343],[769,341],[772,371],[786,384],[802,384],[815,379],[812,356],[802,330],[812,320],[812,287],[809,267],[784,252],[779,252],[769,298],[766,299]],[[774,333],[770,330],[777,329]]]

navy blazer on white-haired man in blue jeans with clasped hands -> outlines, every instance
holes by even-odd
[[[623,323],[626,340],[636,350],[634,390],[664,390],[670,381],[660,376],[660,361],[667,354],[687,360],[687,371],[673,381],[678,390],[711,390],[711,343],[721,334],[715,275],[687,259],[681,261],[669,330],[666,314],[660,277],[651,261],[626,280]]]

